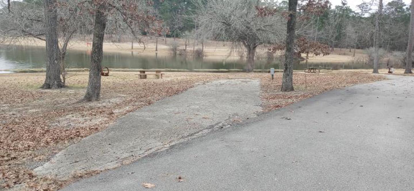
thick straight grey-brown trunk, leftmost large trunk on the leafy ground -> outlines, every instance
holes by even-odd
[[[43,89],[57,89],[64,87],[60,79],[59,44],[58,44],[58,14],[56,0],[45,0],[45,29],[46,29],[46,79]]]

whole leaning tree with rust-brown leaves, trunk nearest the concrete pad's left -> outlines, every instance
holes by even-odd
[[[150,34],[161,34],[163,28],[161,21],[156,19],[150,6],[144,0],[93,0],[92,6],[87,2],[81,2],[81,6],[94,12],[94,33],[91,52],[91,67],[86,94],[81,101],[96,101],[101,95],[101,67],[103,58],[103,40],[108,17],[120,17],[124,24],[131,29],[135,39],[140,41],[136,34],[137,27]]]

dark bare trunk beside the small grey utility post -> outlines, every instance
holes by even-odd
[[[293,91],[293,56],[295,43],[296,6],[298,0],[289,0],[289,19],[287,20],[286,50],[282,77],[283,92]]]

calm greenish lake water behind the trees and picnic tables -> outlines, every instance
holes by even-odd
[[[10,69],[33,69],[46,68],[45,48],[22,47],[22,46],[0,46],[0,73],[6,73]],[[69,50],[65,58],[68,68],[89,68],[90,53],[87,51]],[[369,65],[356,65],[352,63],[309,63],[309,66],[323,67],[326,69],[368,69]],[[140,55],[138,53],[103,53],[102,66],[108,68],[131,68],[131,69],[244,69],[246,60],[211,60],[208,57],[193,58],[193,56],[154,56]],[[283,66],[278,59],[257,60],[255,69],[281,69]],[[306,63],[295,63],[294,70],[303,70]]]

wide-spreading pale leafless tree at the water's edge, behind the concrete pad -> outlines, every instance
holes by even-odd
[[[197,28],[203,37],[242,44],[247,51],[247,72],[255,68],[256,48],[283,39],[283,17],[270,6],[257,0],[198,1]],[[261,7],[272,7],[262,8]]]

